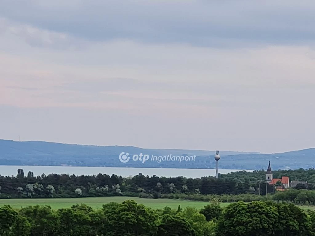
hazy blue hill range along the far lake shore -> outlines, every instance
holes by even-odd
[[[119,154],[129,153],[130,160],[123,163]],[[132,160],[133,155],[149,155],[149,160]],[[0,165],[38,166],[107,166],[107,167],[155,167],[155,168],[215,168],[215,150],[143,149],[133,146],[88,146],[49,143],[41,141],[16,142],[0,139]],[[195,160],[151,160],[153,156],[193,156]],[[272,169],[299,169],[315,167],[315,148],[261,154],[258,152],[220,151],[221,169],[266,169],[268,161]]]

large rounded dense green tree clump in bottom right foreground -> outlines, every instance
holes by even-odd
[[[311,236],[315,233],[313,211],[308,214],[288,203],[238,202],[228,205],[219,222],[222,236]]]

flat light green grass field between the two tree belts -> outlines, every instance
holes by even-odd
[[[208,202],[175,200],[175,199],[146,199],[138,197],[95,197],[95,198],[49,198],[49,199],[0,199],[0,207],[11,205],[13,208],[21,208],[29,205],[50,205],[53,209],[68,208],[77,203],[85,203],[95,209],[102,208],[103,204],[109,202],[123,202],[127,199],[135,200],[154,209],[162,209],[165,206],[177,209],[178,205],[184,208],[186,206],[195,206],[203,208]],[[222,206],[228,203],[222,203]]]

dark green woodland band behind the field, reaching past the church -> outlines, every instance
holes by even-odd
[[[312,180],[315,170],[274,171],[274,177],[289,176],[290,180]],[[141,173],[133,177],[98,174],[75,176],[49,174],[35,177],[32,172],[17,176],[0,176],[0,198],[66,198],[94,196],[140,196],[163,198],[169,194],[223,195],[266,194],[265,171],[238,171],[214,177],[157,177]],[[313,189],[309,181],[308,188]],[[306,188],[306,186],[297,186]],[[274,186],[267,184],[267,193],[274,193]],[[169,198],[169,197],[167,197]],[[196,197],[198,198],[198,197]]]

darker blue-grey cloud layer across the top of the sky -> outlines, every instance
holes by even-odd
[[[132,40],[231,47],[313,43],[305,1],[10,1],[3,17],[89,41]]]

